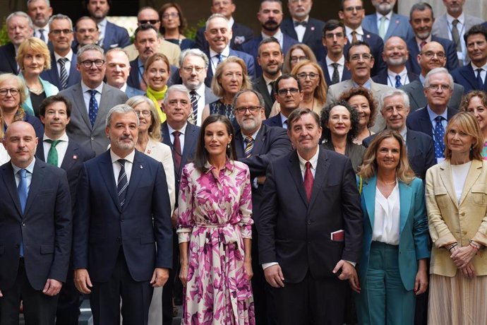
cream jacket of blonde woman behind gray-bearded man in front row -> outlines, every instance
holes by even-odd
[[[162,162],[164,172],[166,173],[167,190],[169,191],[169,199],[171,200],[172,213],[174,211],[174,203],[176,202],[176,181],[174,179],[174,162],[172,161],[171,148],[162,142],[157,142],[149,138],[144,153],[150,158]]]

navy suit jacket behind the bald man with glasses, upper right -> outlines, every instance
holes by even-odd
[[[455,49],[455,43],[446,38],[436,37],[435,35],[431,36],[432,42],[438,42],[443,46],[445,50],[447,63],[445,68],[448,71],[453,71],[458,68],[458,57],[457,57],[457,50]],[[409,40],[406,41],[407,49],[409,50],[409,59],[406,62],[407,71],[411,71],[416,73],[417,75],[421,74],[421,66],[418,63],[418,54],[419,48],[418,43],[416,43],[416,37],[411,37]]]

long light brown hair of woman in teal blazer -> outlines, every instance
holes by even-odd
[[[380,143],[386,138],[395,138],[399,143],[399,164],[396,167],[397,179],[403,183],[411,184],[414,179],[414,171],[411,170],[411,166],[409,166],[409,161],[407,160],[407,150],[404,145],[404,140],[397,131],[392,130],[382,131],[373,138],[366,154],[363,155],[363,163],[360,167],[359,175],[364,179],[369,179],[377,175],[377,150],[379,149]]]

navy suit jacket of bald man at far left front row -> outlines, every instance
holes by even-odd
[[[22,213],[13,167],[6,162],[0,166],[0,197],[0,290],[10,289],[17,278],[22,241],[25,272],[34,290],[42,290],[48,278],[65,282],[72,232],[66,172],[35,160]]]

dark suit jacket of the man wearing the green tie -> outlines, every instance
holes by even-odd
[[[39,143],[37,143],[35,157],[39,160],[45,161],[44,143],[42,138],[40,138]],[[71,141],[71,139],[68,141],[66,154],[61,162],[61,169],[66,172],[66,177],[68,178],[69,193],[71,194],[71,205],[73,208],[76,204],[76,189],[78,188],[78,180],[80,179],[83,162],[92,158],[95,158],[95,151],[88,151],[81,147],[78,143]]]

